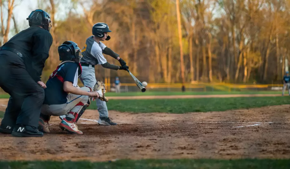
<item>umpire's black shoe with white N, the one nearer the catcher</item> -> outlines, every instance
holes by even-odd
[[[17,125],[12,131],[15,137],[42,137],[43,132],[40,132],[36,127]]]

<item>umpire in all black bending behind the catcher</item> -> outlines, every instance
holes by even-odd
[[[40,76],[52,45],[52,26],[43,10],[32,11],[27,20],[30,27],[0,47],[0,87],[10,95],[0,132],[42,137],[37,127],[46,86]]]

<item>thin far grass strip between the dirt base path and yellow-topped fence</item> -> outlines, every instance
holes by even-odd
[[[280,91],[208,91],[208,92],[127,92],[115,93],[107,92],[106,96],[169,96],[169,95],[209,95],[209,94],[281,94]],[[287,94],[287,93],[286,93]],[[9,94],[0,94],[0,98],[9,98]]]

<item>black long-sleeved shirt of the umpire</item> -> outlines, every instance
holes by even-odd
[[[13,36],[3,46],[11,47],[20,52],[25,58],[27,72],[36,82],[41,81],[44,63],[52,45],[52,35],[38,26],[31,26]]]

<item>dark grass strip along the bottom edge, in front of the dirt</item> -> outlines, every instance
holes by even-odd
[[[92,163],[80,162],[0,162],[0,169],[288,169],[290,160],[282,159],[238,159],[238,160],[215,160],[215,159],[173,159],[173,160],[119,160],[116,162]]]

